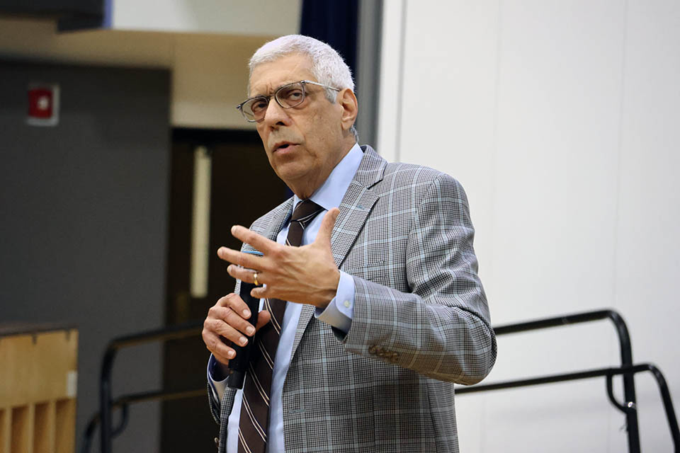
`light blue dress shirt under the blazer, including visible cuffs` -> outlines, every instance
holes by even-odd
[[[354,174],[359,168],[363,151],[358,144],[354,144],[352,149],[344,156],[344,158],[335,166],[331,174],[324,182],[324,184],[312,194],[310,199],[317,203],[317,205],[324,208],[314,221],[307,226],[302,234],[302,245],[314,242],[319,232],[324,214],[333,207],[340,205],[342,197],[344,197],[349,184],[354,178]],[[297,206],[300,198],[295,195],[293,200],[293,207]],[[278,243],[285,243],[285,238],[288,236],[288,225],[285,226],[276,236]],[[285,375],[288,373],[288,366],[290,365],[290,354],[293,352],[293,340],[295,339],[295,328],[300,319],[301,304],[294,304],[287,302],[285,305],[285,313],[283,314],[283,329],[281,331],[281,338],[276,349],[276,357],[274,358],[274,367],[272,371],[272,384],[269,409],[269,430],[268,430],[268,453],[285,453],[285,446],[283,445],[283,382]],[[340,271],[340,282],[336,296],[331,300],[326,309],[317,309],[314,316],[320,321],[329,323],[331,326],[339,328],[341,331],[348,332],[351,327],[352,315],[354,311],[354,280],[352,277],[343,271]],[[222,376],[227,374],[226,367],[223,367],[212,355],[208,362],[208,382],[212,388],[212,396],[217,401],[222,401],[222,395],[225,393],[227,386],[227,379],[222,381],[215,381],[212,379],[212,368],[222,368]],[[246,377],[247,379],[247,377]],[[232,412],[229,414],[229,421],[227,426],[227,453],[237,453],[239,442],[239,417],[241,414],[241,401],[243,398],[243,391],[237,391],[234,396],[234,406]]]

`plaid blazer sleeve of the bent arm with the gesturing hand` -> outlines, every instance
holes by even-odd
[[[475,384],[491,371],[497,346],[477,276],[465,192],[440,173],[412,211],[408,292],[353,277],[353,320],[342,341],[349,352],[434,379]]]

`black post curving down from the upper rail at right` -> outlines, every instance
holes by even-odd
[[[608,310],[609,319],[616,326],[618,342],[621,347],[621,367],[633,367],[633,349],[625,321],[617,311]],[[625,407],[625,426],[628,432],[628,451],[640,453],[640,429],[638,428],[637,398],[635,398],[635,373],[623,373],[623,406]]]

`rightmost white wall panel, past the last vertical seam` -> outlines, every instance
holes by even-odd
[[[627,21],[616,306],[630,323],[633,357],[661,367],[677,408],[680,361],[672,345],[680,322],[680,4],[631,0]],[[638,379],[638,400],[643,451],[670,451],[650,377]]]

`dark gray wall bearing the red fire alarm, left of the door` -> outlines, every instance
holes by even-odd
[[[0,62],[0,321],[77,323],[78,437],[108,340],[164,320],[169,79]],[[31,81],[60,84],[57,127],[25,124]],[[159,351],[123,351],[114,395],[157,388]],[[130,416],[115,450],[157,451],[158,406]]]

